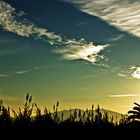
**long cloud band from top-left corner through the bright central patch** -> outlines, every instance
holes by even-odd
[[[55,32],[37,27],[31,21],[23,18],[22,15],[21,12],[17,13],[15,8],[8,3],[0,1],[0,26],[6,31],[24,37],[33,36],[37,39],[45,39],[51,45],[63,45],[65,49],[56,49],[54,52],[63,55],[63,58],[67,60],[82,59],[94,64],[96,61],[104,59],[100,52],[108,45],[95,46],[92,42],[87,42],[84,39],[76,40],[62,37]]]

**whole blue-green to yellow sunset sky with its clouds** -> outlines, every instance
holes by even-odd
[[[0,98],[127,113],[140,103],[140,1],[0,0]]]

